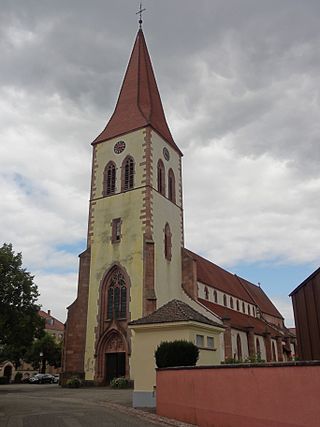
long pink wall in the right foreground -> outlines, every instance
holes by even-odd
[[[320,426],[320,364],[158,370],[157,414],[200,427]]]

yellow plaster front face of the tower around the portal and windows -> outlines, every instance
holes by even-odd
[[[91,246],[90,284],[87,317],[87,340],[85,352],[86,379],[94,378],[95,327],[97,325],[98,299],[101,281],[114,262],[123,266],[131,279],[129,311],[131,319],[142,316],[142,207],[143,161],[142,130],[107,141],[97,146],[96,205],[93,211],[93,243]],[[113,151],[118,140],[126,142],[126,149],[117,155]],[[103,189],[103,171],[105,165],[114,161],[117,165],[117,193],[121,186],[121,164],[123,159],[132,155],[135,160],[135,189],[109,197],[101,197]],[[122,219],[121,241],[111,243],[111,223],[114,218]]]

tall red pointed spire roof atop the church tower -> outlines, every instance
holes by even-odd
[[[114,113],[93,144],[148,125],[180,153],[165,118],[143,31],[139,29]]]

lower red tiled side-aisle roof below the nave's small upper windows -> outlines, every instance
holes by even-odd
[[[245,331],[248,327],[254,327],[254,333],[258,335],[263,335],[265,332],[270,332],[273,337],[279,335],[279,331],[277,329],[271,327],[269,324],[257,317],[248,316],[246,314],[240,313],[239,311],[231,310],[230,308],[219,304],[214,304],[213,302],[204,300],[202,298],[199,298],[199,302],[201,302],[219,317],[230,318],[232,328]]]

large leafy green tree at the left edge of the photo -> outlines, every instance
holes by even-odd
[[[21,363],[35,338],[43,335],[39,297],[33,276],[22,267],[21,253],[11,244],[0,248],[0,359]]]

